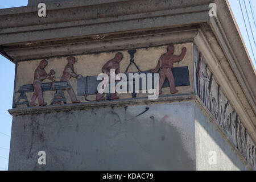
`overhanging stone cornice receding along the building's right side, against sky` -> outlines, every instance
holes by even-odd
[[[246,97],[253,106],[254,115],[256,114],[256,71],[253,61],[250,59],[241,32],[234,19],[228,1],[216,1],[219,13],[217,18],[210,19],[210,25],[214,32],[230,67],[240,82]],[[254,117],[256,122],[256,117]],[[255,123],[256,126],[256,123]]]

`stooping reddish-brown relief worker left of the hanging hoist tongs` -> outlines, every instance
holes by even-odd
[[[115,69],[115,74],[117,75],[120,73],[120,67],[119,63],[123,59],[123,54],[121,52],[118,52],[115,54],[115,57],[111,60],[109,60],[103,67],[102,67],[102,73],[106,73],[109,76],[109,82],[110,82],[110,69]],[[104,78],[102,78],[104,80]],[[110,100],[119,99],[117,97],[116,93],[110,94]],[[105,97],[103,94],[97,93],[96,101],[104,101]]]

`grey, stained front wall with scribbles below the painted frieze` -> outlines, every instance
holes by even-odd
[[[9,170],[195,170],[194,106],[19,115],[13,119]],[[39,166],[42,150],[47,164]]]

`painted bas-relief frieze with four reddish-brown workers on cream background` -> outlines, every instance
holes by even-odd
[[[98,93],[97,85],[102,80],[97,80],[97,75],[110,76],[110,69],[115,69],[115,74],[125,73],[127,77],[129,73],[143,73],[147,78],[151,73],[153,89],[156,89],[154,73],[159,73],[159,94],[162,95],[193,92],[192,43],[186,43],[20,62],[14,107],[143,97],[142,93],[111,93],[105,98]]]

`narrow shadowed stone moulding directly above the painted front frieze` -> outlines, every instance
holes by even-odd
[[[123,49],[143,48],[152,46],[162,46],[170,43],[185,43],[193,42],[198,32],[198,27],[190,26],[178,29],[167,30],[155,30],[155,31],[143,31],[133,34],[132,32],[127,34],[115,34],[105,35],[104,39],[92,40],[91,38],[84,38],[83,40],[60,40],[55,41],[55,44],[49,44],[51,42],[38,43],[35,46],[21,46],[6,47],[6,51],[15,60],[27,61],[36,59],[48,59],[50,57],[59,57],[66,55],[84,55],[87,53],[98,53],[106,51],[117,51]]]

